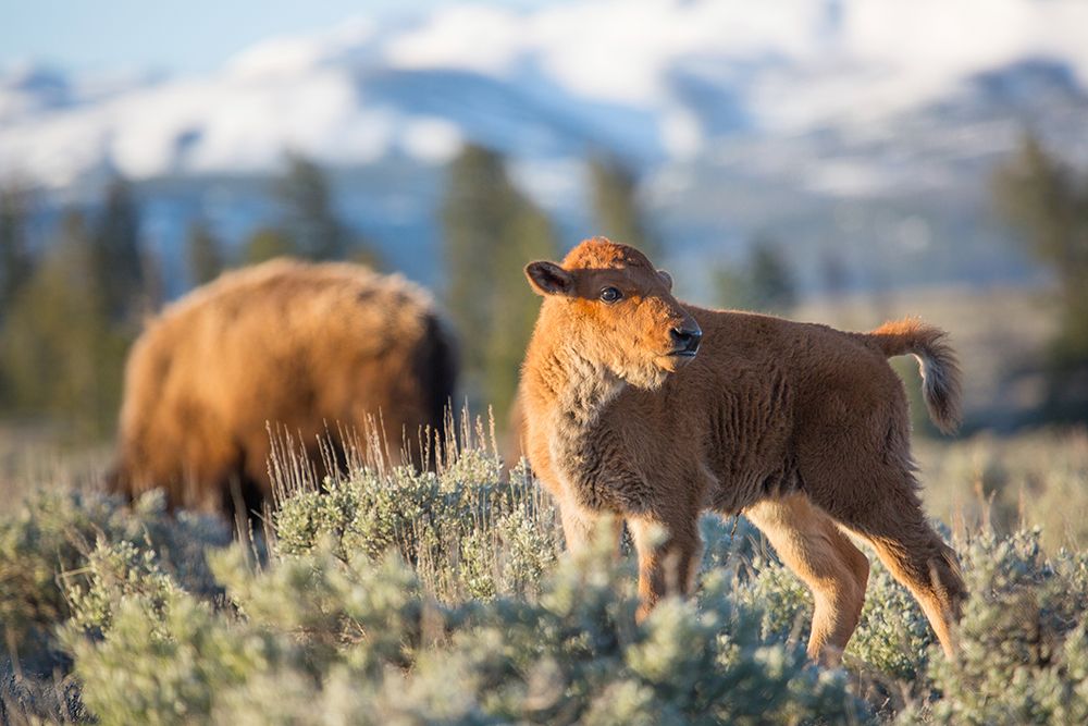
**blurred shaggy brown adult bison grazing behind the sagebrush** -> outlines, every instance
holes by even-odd
[[[380,417],[390,451],[438,429],[453,342],[430,298],[348,263],[274,260],[230,272],[150,321],[125,370],[113,485],[172,505],[269,496],[269,426],[317,440]]]

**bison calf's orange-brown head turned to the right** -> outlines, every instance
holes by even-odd
[[[672,279],[634,247],[586,239],[564,259],[526,267],[544,296],[537,335],[638,387],[656,389],[698,352],[703,332],[672,297]]]

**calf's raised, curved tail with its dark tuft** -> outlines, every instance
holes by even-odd
[[[944,433],[960,428],[960,364],[949,335],[916,318],[885,323],[868,337],[892,356],[913,354],[922,366],[923,397],[929,418]]]

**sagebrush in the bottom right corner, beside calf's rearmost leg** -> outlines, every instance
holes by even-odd
[[[938,723],[1085,723],[1088,553],[1044,556],[1039,530],[980,537],[963,553],[972,593],[961,650],[931,660]]]

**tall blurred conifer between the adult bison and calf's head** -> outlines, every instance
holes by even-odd
[[[511,183],[503,158],[468,146],[452,162],[442,211],[446,300],[461,339],[466,384],[503,415],[539,303],[524,266],[556,251],[545,214]]]

